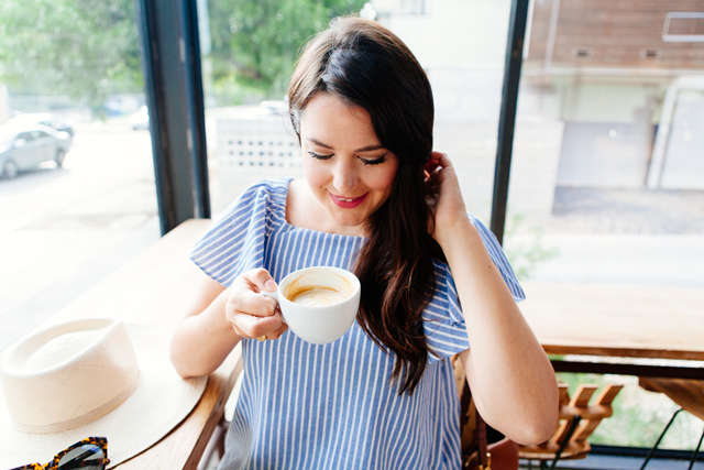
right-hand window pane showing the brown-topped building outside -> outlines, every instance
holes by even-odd
[[[531,1],[505,236],[525,285],[704,285],[701,17],[697,1]],[[626,383],[593,444],[651,447],[676,407],[637,378],[560,380]],[[700,435],[682,414],[660,447]]]

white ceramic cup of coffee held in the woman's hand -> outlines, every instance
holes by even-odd
[[[295,271],[278,283],[278,289],[261,291],[278,302],[284,321],[297,337],[316,345],[334,341],[352,326],[360,292],[354,274],[329,266]]]

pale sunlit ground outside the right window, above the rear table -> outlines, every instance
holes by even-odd
[[[507,220],[514,267],[528,247],[557,252],[531,281],[703,287],[704,192],[558,187],[549,218]]]

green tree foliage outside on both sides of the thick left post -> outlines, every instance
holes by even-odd
[[[212,78],[227,103],[280,98],[301,43],[365,0],[209,0]],[[141,92],[134,0],[0,0],[0,83],[100,106]],[[221,100],[222,101],[222,100]]]

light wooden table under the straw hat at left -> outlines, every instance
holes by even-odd
[[[58,311],[43,326],[84,317],[109,317],[128,323],[175,326],[193,300],[200,272],[188,252],[210,225],[189,220],[108,278]],[[168,435],[144,452],[118,466],[121,470],[195,469],[224,411],[241,371],[238,346],[208,378],[194,411]]]

